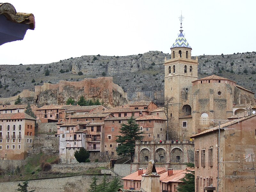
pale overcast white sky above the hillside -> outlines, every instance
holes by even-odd
[[[39,3],[40,2],[40,3]],[[35,30],[0,46],[0,65],[47,64],[83,55],[170,53],[180,33],[192,56],[256,51],[254,0],[8,0],[33,13]]]

